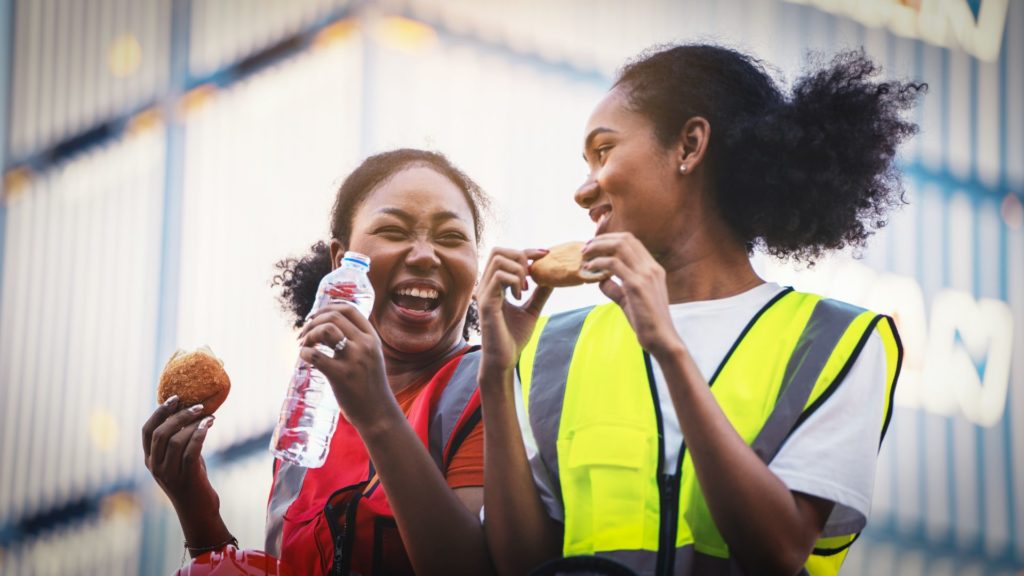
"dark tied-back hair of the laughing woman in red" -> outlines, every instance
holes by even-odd
[[[413,167],[426,166],[452,180],[462,191],[473,213],[473,229],[477,245],[483,234],[483,214],[490,201],[480,187],[457,168],[442,154],[415,149],[399,149],[371,156],[362,161],[342,182],[331,211],[331,238],[347,246],[352,234],[352,217],[367,195],[394,174]],[[331,249],[327,242],[318,241],[301,257],[279,260],[279,273],[270,281],[280,286],[279,301],[286,312],[294,315],[296,328],[301,327],[316,299],[319,281],[332,270]],[[470,330],[479,331],[476,301],[466,313],[463,337],[469,338]]]

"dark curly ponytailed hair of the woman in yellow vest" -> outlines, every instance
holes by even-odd
[[[786,95],[753,56],[688,44],[640,54],[614,86],[665,147],[688,119],[708,120],[706,162],[726,223],[749,251],[813,263],[862,247],[905,203],[894,160],[918,131],[903,113],[928,86],[878,74],[862,50],[843,52]]]

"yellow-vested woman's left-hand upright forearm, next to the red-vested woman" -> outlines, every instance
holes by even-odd
[[[489,379],[490,381],[485,381]],[[527,574],[560,553],[561,529],[541,502],[515,412],[512,369],[481,370],[486,537],[501,574]]]

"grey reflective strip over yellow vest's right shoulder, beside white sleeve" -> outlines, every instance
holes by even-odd
[[[770,462],[782,448],[840,338],[862,312],[863,308],[829,299],[822,299],[814,306],[785,367],[775,408],[751,444],[763,462]]]

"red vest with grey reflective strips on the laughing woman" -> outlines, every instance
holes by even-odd
[[[479,354],[474,348],[449,361],[409,412],[442,472],[480,420]],[[413,574],[370,455],[343,416],[323,467],[274,460],[266,528],[266,551],[296,574]]]

